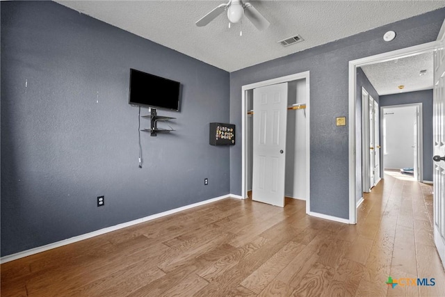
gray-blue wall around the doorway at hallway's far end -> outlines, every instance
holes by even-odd
[[[423,180],[432,181],[432,90],[380,96],[380,106],[421,103],[423,131]]]

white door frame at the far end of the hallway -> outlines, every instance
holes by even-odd
[[[398,107],[409,107],[416,106],[419,116],[416,116],[417,122],[417,163],[419,164],[419,179],[417,182],[423,182],[423,109],[422,102],[410,103],[410,104],[397,104],[397,105],[387,105],[380,106],[380,114],[384,114],[385,109],[396,109]],[[380,137],[383,135],[383,117],[380,117]],[[381,145],[381,144],[380,144]],[[383,149],[385,151],[385,148]],[[380,175],[385,172],[385,154],[380,152]]]

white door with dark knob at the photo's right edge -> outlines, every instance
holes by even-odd
[[[444,24],[438,40],[439,48],[434,53],[434,96],[432,104],[432,127],[434,138],[434,239],[445,268],[445,41]]]

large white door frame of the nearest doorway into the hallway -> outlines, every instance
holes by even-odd
[[[357,79],[356,73],[357,68],[365,65],[371,65],[375,63],[382,63],[391,60],[395,60],[397,58],[406,58],[408,56],[414,56],[416,54],[423,54],[426,52],[434,51],[439,46],[439,42],[432,41],[423,43],[422,45],[414,45],[413,47],[405,47],[404,49],[397,49],[395,51],[388,51],[386,53],[377,54],[374,56],[368,56],[365,58],[359,58],[357,60],[349,61],[349,92],[348,92],[348,103],[349,103],[349,140],[348,140],[348,150],[349,150],[349,223],[355,224],[357,223],[357,207],[356,207],[356,195],[357,191],[361,192],[362,189],[359,189],[356,184],[356,174],[357,170],[357,138],[356,138],[356,127],[360,127],[361,123],[357,121],[357,116],[355,114],[357,109],[356,102],[356,88],[357,88]],[[358,113],[361,113],[361,109],[357,110]],[[359,140],[361,142],[361,140]],[[361,153],[361,151],[359,151]],[[360,158],[361,159],[361,158]],[[361,161],[360,161],[361,163]],[[360,166],[361,167],[361,166]],[[359,172],[360,176],[362,172]],[[360,185],[362,183],[359,183]],[[361,198],[361,197],[360,197]],[[357,200],[358,201],[358,200]]]

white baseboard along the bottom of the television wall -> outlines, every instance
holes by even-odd
[[[13,255],[6,255],[6,256],[3,256],[3,257],[0,258],[0,264],[6,263],[6,262],[10,262],[10,261],[13,261],[13,260],[16,260],[16,259],[20,259],[20,258],[23,258],[23,257],[31,256],[31,255],[34,255],[34,254],[38,254],[39,252],[44,252],[45,250],[51,250],[53,248],[59,248],[60,246],[66,246],[67,244],[70,244],[70,243],[74,243],[74,242],[77,242],[77,241],[82,241],[84,239],[89,239],[89,238],[94,237],[94,236],[102,235],[102,234],[105,234],[105,233],[108,233],[108,232],[112,232],[112,231],[119,230],[119,229],[122,229],[122,228],[125,228],[125,227],[129,227],[129,226],[132,226],[132,225],[144,223],[144,222],[147,222],[148,220],[154,220],[155,218],[161,218],[163,216],[168,216],[170,214],[175,214],[175,213],[177,213],[179,211],[184,211],[186,209],[191,209],[193,207],[199,207],[200,205],[208,204],[208,203],[211,203],[211,202],[216,202],[218,200],[223,200],[225,198],[238,198],[238,197],[240,199],[242,199],[241,196],[238,196],[238,195],[232,195],[232,194],[222,195],[222,196],[219,196],[219,197],[216,197],[216,198],[212,198],[212,199],[209,199],[209,200],[204,200],[204,201],[201,201],[201,202],[189,204],[189,205],[186,205],[184,207],[178,207],[176,209],[170,209],[168,211],[163,211],[163,212],[161,212],[159,214],[152,214],[151,216],[145,216],[144,218],[138,218],[136,220],[131,220],[131,221],[126,222],[126,223],[114,225],[114,226],[111,226],[111,227],[106,227],[104,229],[96,230],[96,231],[93,231],[93,232],[90,232],[90,233],[86,233],[86,234],[81,234],[79,236],[74,236],[74,237],[71,237],[70,239],[64,239],[64,240],[57,241],[57,242],[54,242],[54,243],[49,243],[49,244],[47,244],[45,246],[39,246],[37,248],[31,248],[30,250],[24,250],[22,252],[17,252],[17,253],[15,253]]]

